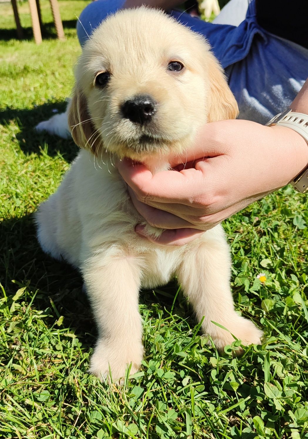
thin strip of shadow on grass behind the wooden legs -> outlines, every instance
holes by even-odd
[[[62,21],[63,28],[64,28],[64,34],[66,33],[67,29],[75,29],[76,28],[76,21],[77,21],[77,19],[63,20]],[[33,40],[32,27],[23,27],[22,32],[23,32],[23,38],[21,38],[21,41]],[[57,39],[57,33],[56,33],[56,29],[55,29],[53,22],[43,23],[42,38],[43,38],[43,40]],[[16,29],[15,28],[0,29],[0,40],[3,40],[3,41],[18,40]]]

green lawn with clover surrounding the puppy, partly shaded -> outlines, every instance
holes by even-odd
[[[30,29],[15,40],[1,4],[0,438],[307,438],[308,200],[290,187],[224,224],[236,307],[264,329],[262,346],[219,355],[170,284],[141,294],[146,355],[135,378],[119,389],[87,374],[96,329],[81,277],[42,253],[32,219],[77,152],[33,127],[70,94],[85,4],[60,1],[67,41],[48,24],[40,46]]]

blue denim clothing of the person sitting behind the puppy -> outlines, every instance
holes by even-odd
[[[77,34],[81,46],[107,15],[124,0],[97,0],[80,15]],[[225,69],[237,99],[241,119],[265,123],[287,108],[308,77],[308,50],[262,29],[251,0],[239,26],[207,23],[180,11],[170,15],[201,33]]]

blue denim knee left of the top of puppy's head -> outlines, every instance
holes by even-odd
[[[124,5],[125,0],[96,0],[88,4],[77,20],[77,36],[83,46],[99,24]]]

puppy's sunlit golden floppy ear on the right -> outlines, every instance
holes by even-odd
[[[237,102],[228,86],[222,67],[212,54],[207,60],[207,74],[210,87],[208,122],[236,119],[238,115]]]

